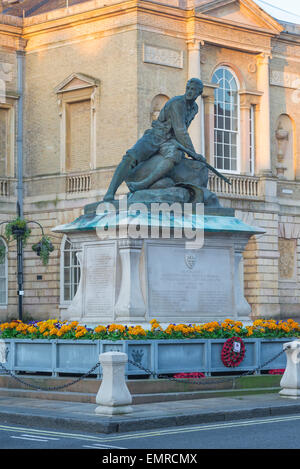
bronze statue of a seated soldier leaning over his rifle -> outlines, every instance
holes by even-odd
[[[220,207],[216,195],[207,189],[208,170],[229,181],[195,152],[188,133],[202,92],[202,81],[192,78],[184,95],[167,101],[151,128],[127,150],[104,201],[113,201],[118,187],[126,181],[130,202],[204,202]]]

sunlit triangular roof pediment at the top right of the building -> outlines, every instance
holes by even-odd
[[[279,34],[283,26],[252,0],[200,0],[196,12]]]

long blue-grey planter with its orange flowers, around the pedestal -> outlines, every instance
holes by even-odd
[[[234,368],[224,366],[222,361],[224,344],[233,337],[240,337],[245,345],[245,356]],[[259,319],[251,326],[226,319],[202,325],[170,324],[165,329],[154,319],[150,321],[149,330],[120,324],[90,329],[76,321],[68,323],[57,319],[0,324],[7,369],[48,372],[53,376],[86,373],[98,362],[99,354],[112,350],[128,355],[127,376],[157,377],[175,373],[210,376],[235,370],[284,369],[285,354],[275,361],[272,358],[283,350],[286,341],[299,337],[300,325],[292,319]],[[97,377],[101,377],[101,373],[100,367]]]

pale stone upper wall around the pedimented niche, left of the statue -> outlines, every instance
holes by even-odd
[[[97,167],[119,162],[137,136],[135,48],[136,33],[129,31],[26,56],[27,176],[60,170],[60,122],[54,90],[78,70],[100,81],[95,111]]]

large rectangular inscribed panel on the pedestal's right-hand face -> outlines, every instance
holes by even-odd
[[[193,268],[188,251],[172,246],[148,246],[148,301],[154,317],[229,314],[232,275],[226,249],[199,249]]]

